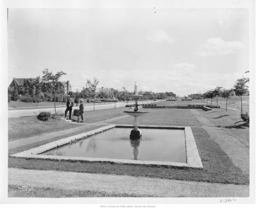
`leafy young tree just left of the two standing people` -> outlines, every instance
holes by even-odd
[[[66,73],[60,71],[53,74],[52,72],[49,72],[48,69],[45,69],[42,71],[42,74],[44,74],[41,79],[42,88],[53,93],[54,109],[56,114],[56,94],[63,93],[63,85],[59,82],[59,79],[62,75],[66,75]]]

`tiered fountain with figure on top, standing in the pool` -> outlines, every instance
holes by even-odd
[[[141,138],[142,135],[141,135],[140,129],[138,128],[138,126],[139,126],[138,117],[145,113],[148,113],[148,112],[138,111],[138,99],[143,97],[143,95],[139,95],[137,89],[138,89],[138,86],[137,86],[137,83],[135,82],[134,95],[130,95],[130,98],[133,98],[135,100],[134,111],[124,111],[124,113],[126,113],[128,115],[134,116],[134,122],[133,122],[134,128],[132,129],[131,134],[130,134],[130,139],[132,139],[132,140]]]

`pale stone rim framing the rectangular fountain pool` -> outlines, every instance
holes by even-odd
[[[57,161],[71,161],[71,162],[105,162],[105,163],[117,163],[117,164],[133,164],[133,165],[147,165],[147,166],[169,166],[169,167],[184,167],[184,168],[197,168],[203,169],[201,158],[198,153],[195,138],[193,136],[192,130],[187,126],[158,126],[158,125],[140,125],[141,128],[160,128],[160,129],[183,129],[185,133],[185,146],[186,146],[186,160],[187,163],[176,163],[176,162],[163,162],[163,161],[139,161],[139,160],[122,160],[122,159],[106,159],[106,158],[86,158],[78,156],[58,156],[58,155],[44,155],[40,154],[50,149],[63,146],[92,135],[103,132],[114,127],[127,127],[133,128],[133,125],[121,124],[121,125],[107,125],[95,130],[91,130],[86,133],[68,137],[65,139],[60,139],[39,147],[35,147],[23,152],[10,155],[15,158],[26,158],[26,159],[45,159],[45,160],[57,160]]]

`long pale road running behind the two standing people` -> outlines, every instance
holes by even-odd
[[[157,100],[161,101],[161,100]],[[157,102],[154,101],[154,102]],[[153,101],[152,101],[153,102]],[[132,102],[134,103],[134,102]],[[138,104],[146,103],[146,101],[138,101]],[[148,101],[150,103],[150,101]],[[131,104],[131,103],[130,103]],[[110,103],[105,105],[96,105],[95,104],[95,110],[103,110],[103,109],[110,109],[110,108],[119,108],[119,107],[125,107],[127,105],[126,102],[116,102],[116,103]],[[74,109],[79,109],[79,107],[73,107]],[[63,108],[56,108],[56,112],[65,112],[66,107]],[[84,111],[92,111],[93,105],[84,106]],[[8,111],[8,118],[17,118],[17,117],[24,117],[24,116],[36,116],[40,112],[51,112],[54,113],[54,108],[40,108],[40,109],[29,109],[29,110],[9,110]]]

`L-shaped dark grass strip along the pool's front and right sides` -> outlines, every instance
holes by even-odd
[[[141,165],[119,165],[111,163],[80,163],[49,160],[26,160],[9,158],[9,167],[60,170],[87,173],[146,176],[154,178],[220,182],[224,184],[249,184],[249,176],[233,165],[220,146],[209,138],[201,127],[193,127],[193,134],[204,166],[203,170],[191,168],[150,167]]]

